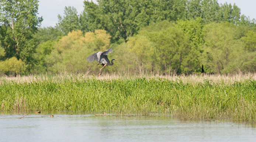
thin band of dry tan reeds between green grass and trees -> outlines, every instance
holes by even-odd
[[[120,74],[103,74],[101,76],[94,75],[83,75],[83,74],[61,74],[61,75],[30,75],[30,76],[0,76],[0,84],[3,83],[33,83],[35,81],[52,81],[52,82],[62,82],[63,80],[84,80],[84,79],[98,79],[98,80],[134,80],[136,78],[151,79],[151,78],[162,78],[174,82],[182,83],[191,83],[198,84],[208,81],[210,83],[224,83],[224,84],[233,84],[235,82],[243,82],[245,80],[256,80],[256,73],[247,73],[247,74],[227,74],[227,75],[210,75],[210,74],[201,74],[201,75],[120,75]]]

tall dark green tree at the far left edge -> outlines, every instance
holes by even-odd
[[[43,20],[38,0],[0,0],[0,41],[5,59],[16,57],[31,66],[35,52],[33,34]]]

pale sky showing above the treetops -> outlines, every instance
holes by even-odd
[[[43,17],[41,27],[54,27],[58,22],[58,14],[63,15],[65,6],[73,6],[77,13],[83,11],[84,0],[39,0],[38,15]],[[92,0],[96,2],[96,0]],[[256,0],[218,0],[218,3],[235,3],[240,9],[241,14],[249,16],[252,20],[256,19]]]

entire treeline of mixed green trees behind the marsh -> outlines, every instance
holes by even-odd
[[[96,73],[94,52],[113,49],[104,72],[256,71],[255,20],[217,0],[97,0],[65,7],[41,28],[38,0],[0,0],[0,73]]]

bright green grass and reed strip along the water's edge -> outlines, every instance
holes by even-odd
[[[167,112],[182,119],[256,122],[254,79],[199,78],[203,81],[64,77],[17,83],[2,79],[0,107],[2,111]]]

